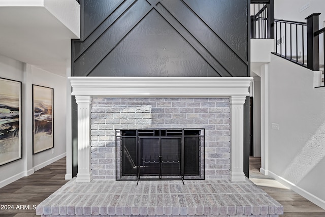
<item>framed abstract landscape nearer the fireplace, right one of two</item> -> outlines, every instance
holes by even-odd
[[[33,153],[54,147],[53,88],[32,85]]]

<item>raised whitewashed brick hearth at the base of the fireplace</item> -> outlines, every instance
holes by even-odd
[[[276,217],[283,207],[250,180],[113,181],[75,179],[37,206],[42,216]]]

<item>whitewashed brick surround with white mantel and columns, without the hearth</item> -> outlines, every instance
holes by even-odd
[[[71,77],[78,104],[77,181],[116,179],[118,129],[205,129],[205,179],[245,181],[249,77]]]

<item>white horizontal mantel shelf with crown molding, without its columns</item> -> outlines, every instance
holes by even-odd
[[[69,77],[73,96],[249,96],[251,77]]]

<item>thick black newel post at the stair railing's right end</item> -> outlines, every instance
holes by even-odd
[[[319,15],[319,13],[311,14],[305,18],[307,20],[307,68],[313,71],[319,71],[319,36],[314,36],[319,29]]]

